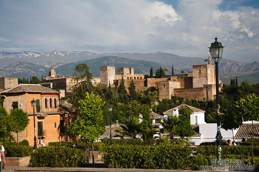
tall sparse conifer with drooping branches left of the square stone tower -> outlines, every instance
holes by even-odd
[[[71,95],[69,102],[75,107],[78,106],[78,102],[85,97],[86,92],[93,92],[92,86],[92,74],[89,72],[89,67],[86,63],[78,64],[73,73],[73,81],[75,85],[73,86],[74,94]]]

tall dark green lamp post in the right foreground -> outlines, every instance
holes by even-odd
[[[217,146],[217,160],[223,158],[223,153],[222,153],[222,135],[220,133],[220,116],[219,116],[219,90],[218,90],[218,62],[222,58],[222,53],[223,53],[223,46],[221,42],[217,41],[217,38],[215,38],[215,42],[211,43],[210,48],[210,53],[213,61],[215,62],[216,65],[216,113],[217,113],[217,134],[216,134],[216,146]]]

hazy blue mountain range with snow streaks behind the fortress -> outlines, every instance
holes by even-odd
[[[87,51],[51,51],[51,52],[0,52],[0,77],[18,76],[47,76],[53,66],[57,74],[72,75],[74,67],[79,63],[86,63],[93,76],[100,76],[100,66],[113,65],[117,67],[134,67],[135,74],[149,74],[151,66],[153,72],[159,68],[168,69],[172,74],[180,71],[192,71],[193,65],[206,64],[205,58],[181,57],[169,53],[90,53]],[[259,72],[259,62],[237,62],[222,58],[219,62],[220,77],[243,76],[247,72]],[[237,75],[238,74],[238,75]]]

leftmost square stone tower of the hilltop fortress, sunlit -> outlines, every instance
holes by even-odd
[[[100,67],[100,84],[109,86],[113,84],[115,79],[115,66],[101,66]]]

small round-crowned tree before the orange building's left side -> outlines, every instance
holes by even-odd
[[[22,109],[15,108],[10,114],[12,121],[12,132],[17,134],[17,144],[19,146],[18,133],[22,132],[29,124],[29,118],[27,113],[23,112]]]

